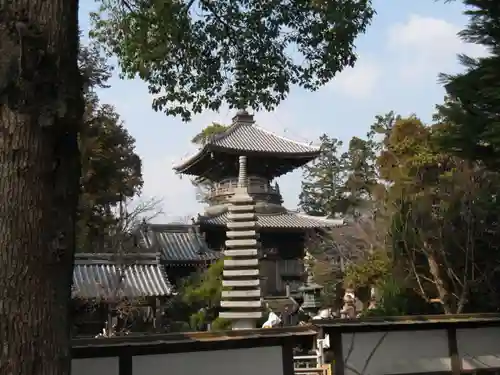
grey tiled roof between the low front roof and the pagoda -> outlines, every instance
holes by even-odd
[[[218,259],[220,253],[208,248],[193,225],[149,224],[141,230],[142,242],[160,252],[166,262],[200,262]]]

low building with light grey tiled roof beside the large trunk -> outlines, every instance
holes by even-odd
[[[161,331],[161,312],[173,293],[159,253],[77,253],[73,334]]]

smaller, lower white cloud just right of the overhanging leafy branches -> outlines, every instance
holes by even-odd
[[[329,86],[353,99],[366,99],[374,93],[380,77],[380,66],[374,60],[360,58],[353,68],[339,73]]]

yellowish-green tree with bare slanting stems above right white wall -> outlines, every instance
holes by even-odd
[[[436,147],[441,124],[398,118],[377,164],[394,274],[445,313],[498,305],[498,173]]]

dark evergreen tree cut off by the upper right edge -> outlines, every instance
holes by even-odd
[[[446,122],[441,145],[467,160],[500,166],[500,7],[491,0],[464,0],[469,24],[460,36],[485,46],[490,55],[460,56],[465,72],[442,75],[447,98],[437,118]]]

